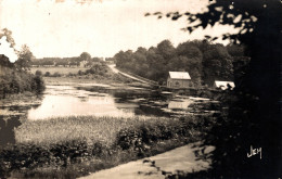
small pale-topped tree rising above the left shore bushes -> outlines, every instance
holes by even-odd
[[[17,67],[17,69],[29,69],[30,67],[30,63],[31,63],[31,59],[34,59],[34,54],[33,52],[29,50],[29,48],[24,44],[22,46],[22,50],[18,52],[18,59],[15,62],[15,66]]]

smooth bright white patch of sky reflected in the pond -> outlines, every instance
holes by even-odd
[[[127,107],[124,104],[124,107]],[[119,108],[123,108],[119,105]],[[133,108],[133,107],[132,107]],[[62,117],[69,115],[94,116],[132,116],[133,110],[118,110],[112,97],[88,97],[87,99],[72,95],[46,95],[42,104],[28,112],[29,119],[42,119],[49,117]]]

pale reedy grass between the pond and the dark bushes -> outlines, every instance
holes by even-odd
[[[167,118],[121,118],[95,116],[69,116],[44,120],[26,120],[15,129],[17,143],[33,142],[49,145],[70,140],[100,141],[106,145],[113,144],[120,129],[130,126],[151,123],[162,123]]]

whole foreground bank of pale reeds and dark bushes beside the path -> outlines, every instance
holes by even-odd
[[[204,124],[210,123],[208,116],[26,120],[15,129],[16,144],[1,150],[2,172],[27,178],[86,176],[200,141],[208,129]]]

